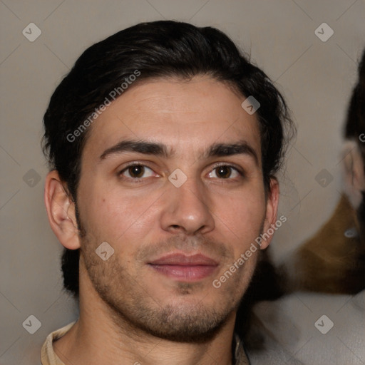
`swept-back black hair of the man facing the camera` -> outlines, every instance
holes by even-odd
[[[264,186],[269,191],[270,178],[282,163],[285,132],[294,130],[277,88],[221,31],[176,21],[154,21],[131,26],[86,49],[51,96],[44,115],[43,153],[50,167],[58,170],[74,202],[88,130],[72,143],[67,136],[135,71],[140,73],[135,83],[156,77],[190,79],[209,75],[242,96],[257,99]],[[78,259],[79,250],[63,252],[64,287],[76,298]]]

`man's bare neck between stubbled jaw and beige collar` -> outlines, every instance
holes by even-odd
[[[201,343],[160,339],[113,312],[83,275],[78,322],[53,343],[53,349],[66,365],[230,365],[235,317],[230,314],[220,331]]]

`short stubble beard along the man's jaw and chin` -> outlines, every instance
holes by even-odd
[[[81,266],[86,269],[88,278],[99,297],[106,304],[113,322],[123,334],[148,334],[160,339],[178,342],[205,343],[211,341],[227,324],[232,313],[237,310],[243,294],[252,277],[255,264],[245,274],[231,277],[220,289],[220,301],[214,307],[200,301],[178,305],[162,304],[153,292],[143,287],[138,277],[132,277],[112,255],[103,261],[96,255],[95,242],[88,239],[88,232],[78,217],[81,234]],[[176,293],[189,296],[196,293],[200,283],[180,282]],[[238,288],[238,289],[237,289]],[[220,292],[217,292],[220,291]],[[209,295],[209,294],[208,294]]]

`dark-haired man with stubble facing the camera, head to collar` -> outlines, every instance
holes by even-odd
[[[237,309],[282,224],[288,126],[217,29],[157,21],[88,48],[44,116],[46,208],[80,317],[43,365],[249,364]]]

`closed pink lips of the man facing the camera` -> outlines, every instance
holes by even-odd
[[[218,263],[210,257],[196,254],[170,254],[148,262],[160,274],[184,282],[193,282],[211,276]]]

